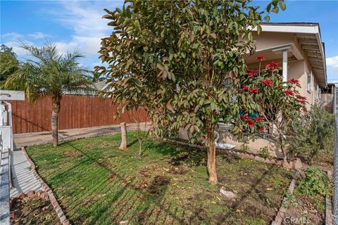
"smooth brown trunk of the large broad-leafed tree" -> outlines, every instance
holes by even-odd
[[[216,148],[215,148],[215,136],[213,134],[213,125],[211,121],[206,122],[206,141],[208,143],[208,174],[209,174],[209,183],[217,184],[217,174],[216,174]]]

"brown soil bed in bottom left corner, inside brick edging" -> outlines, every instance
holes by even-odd
[[[11,201],[11,224],[60,224],[49,201],[39,197]]]

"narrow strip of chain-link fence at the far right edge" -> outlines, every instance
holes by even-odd
[[[335,115],[336,137],[334,142],[334,196],[333,196],[333,220],[338,225],[338,114]]]

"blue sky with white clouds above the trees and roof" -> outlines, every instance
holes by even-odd
[[[269,1],[253,0],[265,8]],[[286,1],[286,11],[270,16],[270,22],[319,23],[325,42],[327,79],[338,79],[338,0]],[[108,37],[113,27],[102,19],[104,8],[113,11],[123,1],[4,1],[0,0],[1,44],[13,47],[19,60],[27,55],[19,41],[42,46],[46,41],[56,44],[60,53],[78,49],[84,53],[82,65],[92,70],[100,65],[100,39]]]

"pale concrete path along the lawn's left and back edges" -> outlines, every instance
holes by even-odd
[[[140,127],[141,129],[144,129],[144,124],[141,124]],[[136,124],[127,124],[128,131],[132,131],[134,129],[136,129]],[[120,132],[119,124],[102,127],[65,129],[59,131],[59,141],[104,134],[114,134],[118,132]],[[50,131],[14,134],[13,139],[14,149],[53,141]],[[13,155],[11,157],[11,169],[13,178],[11,197],[17,195],[18,193],[27,193],[28,191],[38,191],[40,189],[42,190],[42,186],[33,175],[30,163],[25,158],[22,150],[13,151]]]

